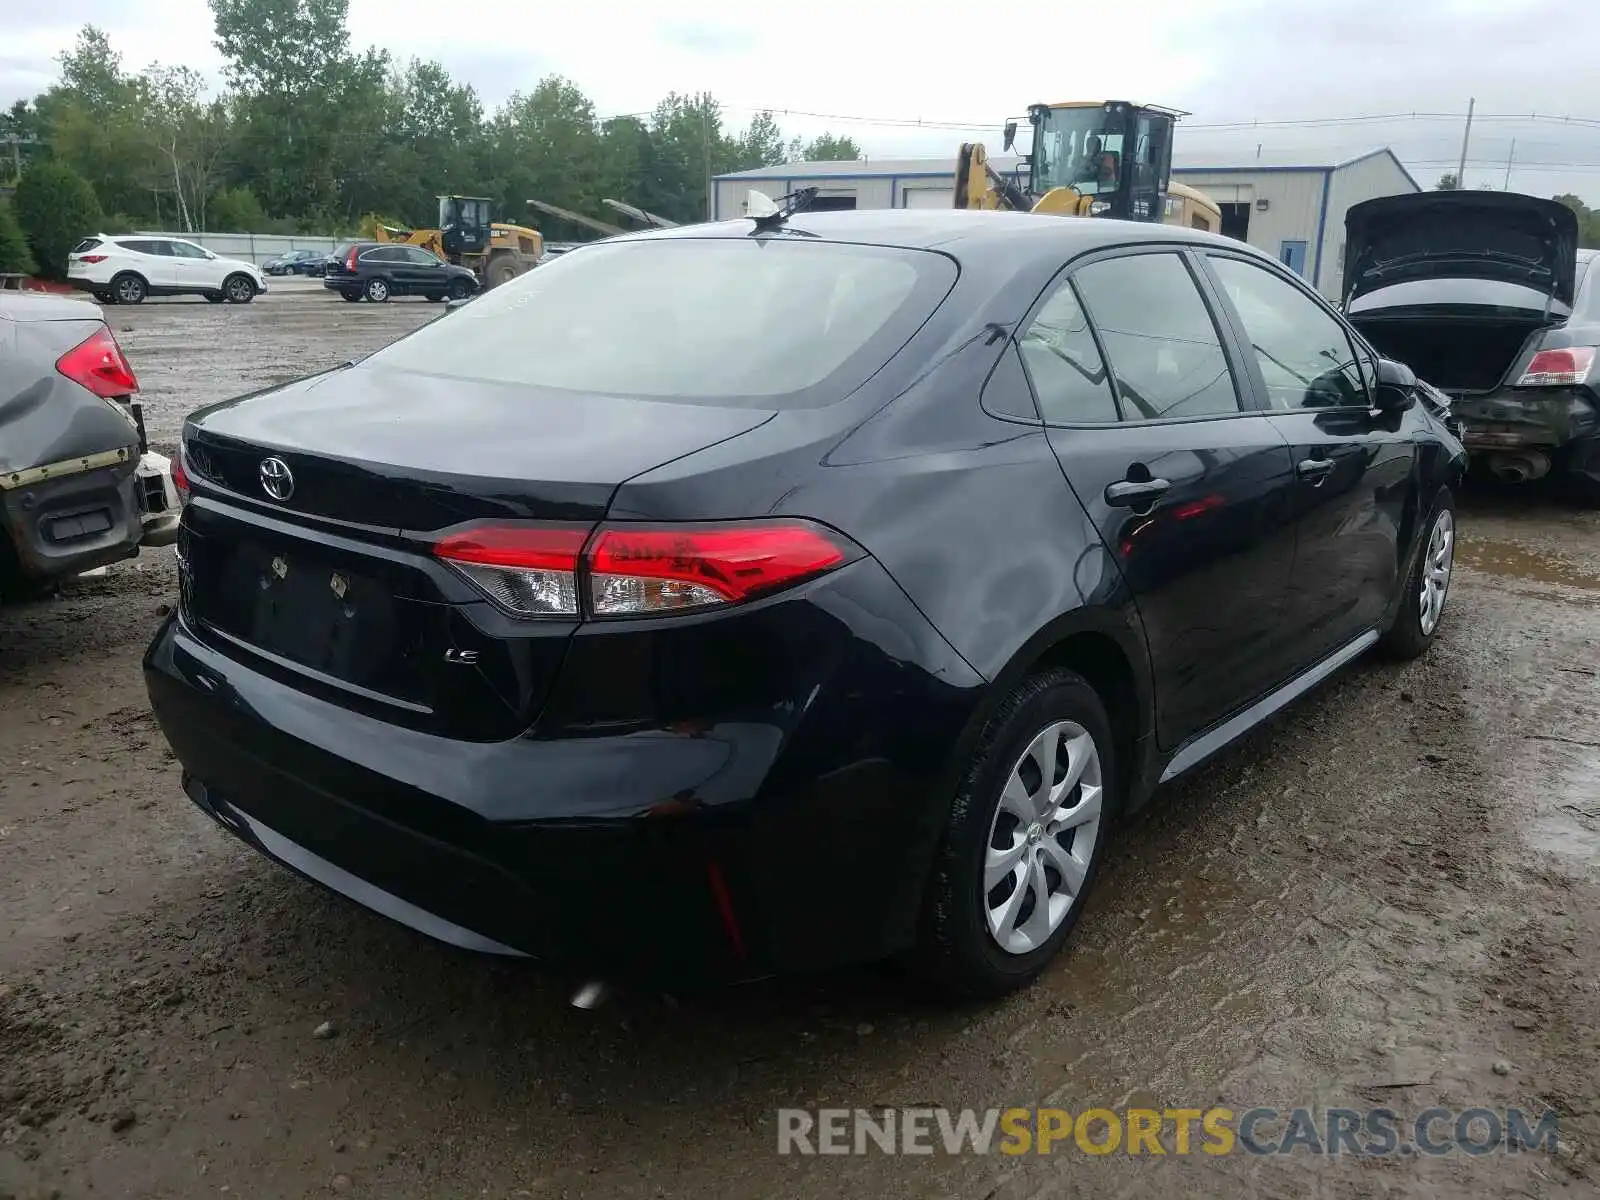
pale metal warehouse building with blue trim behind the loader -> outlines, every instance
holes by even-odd
[[[1014,155],[989,160],[1000,173]],[[1418,192],[1416,179],[1387,147],[1336,163],[1237,163],[1176,155],[1173,178],[1198,187],[1222,210],[1222,232],[1275,254],[1322,294],[1339,294],[1344,214],[1362,200]],[[949,208],[952,158],[877,158],[843,163],[784,163],[712,179],[712,219],[744,213],[749,189],[770,195],[818,187],[816,208]]]

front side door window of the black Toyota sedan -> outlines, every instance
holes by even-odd
[[[1331,314],[1253,262],[1213,258],[1211,270],[1250,336],[1272,408],[1368,405],[1355,347]]]

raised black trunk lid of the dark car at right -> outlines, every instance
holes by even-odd
[[[1514,192],[1418,192],[1354,205],[1344,218],[1346,304],[1378,288],[1480,278],[1565,306],[1578,277],[1578,216]]]

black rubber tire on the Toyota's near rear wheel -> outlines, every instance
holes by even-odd
[[[1093,829],[1086,824],[1078,826],[1067,843],[1077,859],[1080,846],[1075,838],[1080,830],[1091,838],[1082,848],[1088,856],[1086,866],[1082,867],[1082,883],[1066,914],[1059,917],[1061,923],[1032,949],[1008,950],[990,933],[987,912],[997,893],[1000,894],[997,902],[1005,902],[1010,894],[1006,883],[1013,885],[1013,893],[1018,885],[1002,875],[997,888],[986,893],[984,861],[990,851],[990,840],[1002,830],[1002,818],[1013,819],[1010,811],[1002,813],[1002,792],[1006,782],[1013,771],[1030,762],[1029,747],[1035,739],[1059,722],[1072,723],[1093,741],[1101,781],[1096,810],[1099,816]],[[1078,923],[1110,834],[1115,798],[1120,795],[1114,747],[1106,706],[1094,688],[1075,672],[1059,667],[1042,670],[1022,680],[1002,701],[979,734],[934,856],[928,894],[923,899],[922,926],[909,962],[918,974],[955,995],[995,997],[1024,987],[1050,965]],[[1064,778],[1066,765],[1059,762],[1064,757],[1064,752],[1058,755],[1058,779]],[[1037,773],[1038,763],[1032,762]],[[1088,778],[1085,774],[1085,779]],[[1075,789],[1075,795],[1080,805],[1088,800],[1082,784]],[[1093,800],[1088,803],[1093,806]],[[1048,830],[1035,829],[1040,824],[1035,822],[1024,830],[1016,822],[1005,835],[1013,840],[1021,837],[1019,845],[1026,846],[1022,853],[1032,856],[1032,846],[1051,838]],[[1066,835],[1066,830],[1061,835]],[[1056,848],[1062,848],[1059,840]],[[1030,859],[1022,859],[1027,861]],[[1058,874],[1056,883],[1048,886],[1054,888],[1059,883]],[[1021,910],[1014,925],[1029,920],[1029,914],[1038,904],[1037,894],[1034,891],[1032,902],[1027,896],[1019,901]]]

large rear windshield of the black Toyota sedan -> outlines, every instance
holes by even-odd
[[[757,408],[832,403],[955,283],[936,253],[840,242],[606,242],[378,350],[365,365],[574,394]]]

